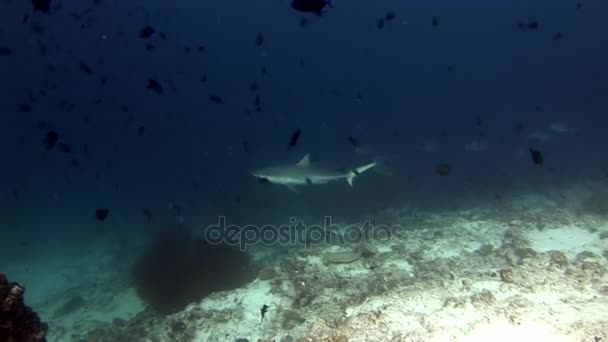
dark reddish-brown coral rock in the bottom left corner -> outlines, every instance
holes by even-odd
[[[47,325],[23,303],[25,289],[0,273],[0,341],[46,341]]]

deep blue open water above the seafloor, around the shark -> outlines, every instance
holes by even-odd
[[[336,0],[323,17],[287,1],[53,0],[44,14],[2,0],[0,9],[0,47],[10,50],[0,56],[3,243],[104,235],[125,222],[145,232],[144,208],[154,226],[175,219],[168,202],[194,226],[217,215],[357,219],[404,204],[486,204],[608,172],[602,1]],[[388,11],[395,19],[378,29]],[[154,33],[143,39],[146,25]],[[557,122],[569,131],[552,132]],[[45,148],[51,130],[69,153]],[[530,139],[537,131],[550,139]],[[373,151],[356,153],[349,136]],[[473,141],[489,148],[466,151]],[[337,168],[383,156],[392,175],[296,195],[249,174],[307,153]],[[450,175],[435,172],[440,163]],[[110,211],[103,222],[99,208]]]

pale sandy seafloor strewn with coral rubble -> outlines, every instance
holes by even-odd
[[[52,342],[607,341],[608,197],[591,189],[387,209],[370,219],[404,227],[389,241],[291,248],[247,287],[165,318],[116,276],[128,256],[108,256],[109,239],[2,270],[26,285]]]

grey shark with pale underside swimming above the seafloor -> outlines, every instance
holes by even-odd
[[[310,154],[307,154],[296,164],[267,167],[253,171],[251,174],[263,183],[284,185],[290,190],[298,192],[297,187],[327,184],[342,179],[345,179],[352,187],[355,177],[374,166],[376,166],[375,162],[349,171],[326,170],[312,164]]]

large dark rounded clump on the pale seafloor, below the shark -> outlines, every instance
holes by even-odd
[[[213,292],[242,287],[255,278],[248,253],[210,244],[184,227],[157,233],[133,266],[137,293],[153,310],[170,314]]]

